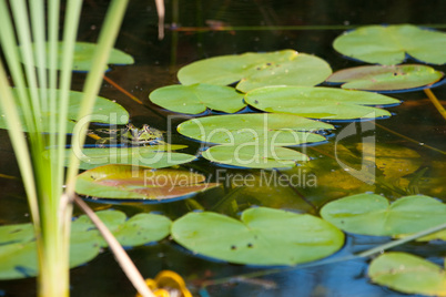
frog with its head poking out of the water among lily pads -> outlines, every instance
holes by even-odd
[[[121,133],[121,142],[131,144],[163,144],[163,133],[148,124],[143,124],[141,129],[133,124],[128,124]]]

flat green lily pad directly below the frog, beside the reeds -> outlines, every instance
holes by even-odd
[[[91,170],[108,164],[132,164],[163,168],[194,161],[194,155],[171,152],[187,147],[179,144],[159,144],[132,147],[83,148],[78,157],[81,170]],[[70,160],[71,150],[67,150],[65,164]]]

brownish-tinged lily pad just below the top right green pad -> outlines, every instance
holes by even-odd
[[[327,82],[346,82],[342,85],[343,89],[401,91],[433,84],[443,75],[443,72],[426,65],[371,65],[336,71]]]

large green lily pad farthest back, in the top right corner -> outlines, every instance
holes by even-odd
[[[368,63],[395,65],[410,57],[432,64],[446,63],[446,34],[412,24],[365,25],[333,42],[336,51]]]

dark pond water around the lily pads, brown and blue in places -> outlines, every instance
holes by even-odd
[[[84,3],[79,40],[94,42],[108,1],[91,0]],[[178,70],[199,59],[235,54],[247,51],[266,52],[294,49],[315,54],[327,61],[334,71],[363,63],[344,59],[332,48],[333,40],[345,30],[363,24],[413,23],[445,29],[446,2],[416,0],[401,1],[311,1],[311,0],[244,0],[244,1],[178,1],[166,3],[165,38],[158,40],[156,11],[152,1],[130,1],[129,10],[116,47],[134,57],[134,65],[112,66],[107,76],[116,82],[143,106],[104,82],[101,95],[116,100],[129,112],[132,122],[146,123],[168,131],[168,116],[172,115],[149,101],[149,93],[158,88],[178,83]],[[229,28],[231,27],[231,28]],[[445,71],[445,66],[435,66]],[[73,90],[80,90],[84,74],[74,75]],[[446,86],[433,92],[446,105]],[[426,168],[415,190],[446,202],[446,126],[444,119],[423,91],[392,94],[403,100],[398,106],[388,107],[394,115],[376,121],[372,132],[357,133],[339,142],[341,158],[358,152],[362,137],[376,140],[378,162],[388,180],[401,188],[408,186],[415,173]],[[179,124],[187,116],[176,116]],[[336,133],[351,123],[334,123]],[[359,123],[354,124],[359,126]],[[173,133],[172,143],[190,145],[185,152],[195,153],[199,144]],[[28,206],[20,182],[20,174],[6,131],[0,131],[0,223],[29,222]],[[158,205],[126,203],[119,205],[90,202],[94,209],[115,208],[133,215],[140,212],[159,212],[172,219],[195,209],[205,209],[236,216],[240,212],[262,205],[298,213],[318,214],[327,202],[356,193],[374,192],[394,199],[402,196],[383,186],[368,185],[353,177],[333,158],[336,137],[326,143],[303,147],[314,158],[311,165],[298,168],[300,184],[264,188],[236,188],[230,182],[223,187],[199,194],[190,199]],[[301,150],[301,148],[296,148]],[[361,156],[361,155],[358,155]],[[349,163],[352,167],[358,164]],[[185,168],[204,174],[230,176],[246,175],[256,171],[217,167],[205,160],[197,160]],[[407,174],[401,174],[401,170]],[[316,184],[307,183],[314,175]],[[3,176],[7,175],[7,176]],[[408,177],[406,176],[408,175]],[[405,177],[404,177],[405,176]],[[235,202],[235,203],[234,203]],[[235,205],[235,206],[234,206]],[[79,212],[77,213],[79,214]],[[387,242],[385,237],[347,236],[344,248],[332,257],[341,257]],[[396,248],[414,253],[442,264],[446,244],[410,243]],[[369,259],[348,260],[310,268],[270,272],[267,268],[231,265],[191,254],[171,239],[134,247],[130,256],[145,277],[153,277],[162,269],[181,274],[194,294],[201,281],[222,279],[243,274],[264,272],[264,275],[245,281],[224,281],[206,287],[202,296],[406,296],[371,284],[366,277]],[[207,295],[206,295],[207,294]],[[0,296],[33,296],[36,279],[0,281]],[[71,296],[134,296],[134,290],[113,256],[104,250],[82,267],[72,269]]]

